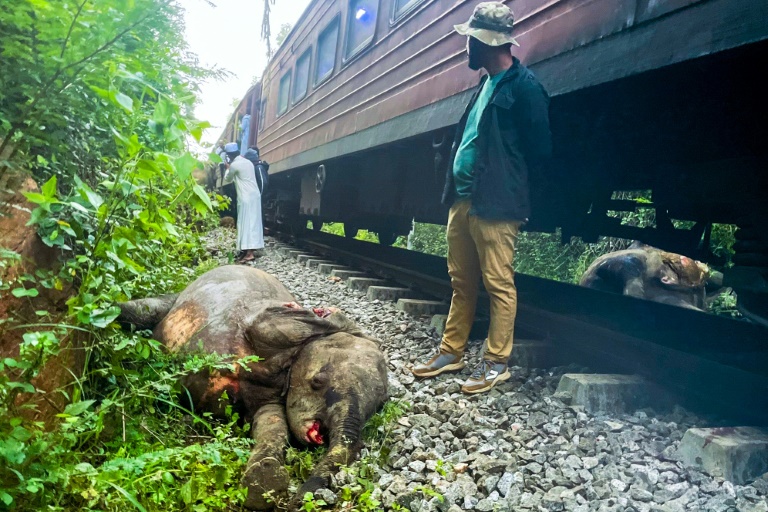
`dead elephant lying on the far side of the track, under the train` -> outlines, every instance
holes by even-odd
[[[597,258],[581,286],[689,309],[707,309],[707,285],[722,285],[722,274],[704,263],[634,242]]]

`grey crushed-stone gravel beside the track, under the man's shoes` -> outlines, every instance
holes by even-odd
[[[226,264],[234,230],[216,229],[206,243]],[[303,306],[340,307],[378,338],[389,361],[390,396],[411,404],[392,430],[386,464],[375,468],[375,497],[385,510],[398,503],[414,512],[768,512],[768,474],[739,486],[678,461],[686,429],[704,426],[685,410],[592,416],[556,399],[561,375],[583,368],[511,367],[509,381],[464,395],[460,386],[481,348],[473,341],[461,373],[415,379],[410,366],[439,344],[429,317],[368,300],[365,290],[279,256],[274,243],[268,239],[254,266],[280,279]],[[338,475],[337,483],[345,478]],[[443,499],[419,492],[423,488]],[[335,501],[332,491],[321,494]]]

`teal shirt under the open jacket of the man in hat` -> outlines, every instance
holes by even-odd
[[[477,129],[480,126],[483,111],[491,101],[493,90],[503,77],[504,73],[488,77],[477,96],[477,101],[469,112],[467,125],[464,127],[464,135],[461,137],[461,144],[456,150],[456,158],[453,161],[453,181],[456,184],[458,199],[466,199],[472,195],[472,178],[477,160]]]

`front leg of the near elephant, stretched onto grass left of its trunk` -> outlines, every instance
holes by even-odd
[[[245,507],[269,510],[275,506],[275,502],[285,497],[290,483],[285,470],[285,448],[288,444],[285,407],[280,404],[261,407],[253,416],[251,431],[256,446],[248,459],[242,479],[242,485],[248,488]],[[268,502],[264,494],[270,491]]]

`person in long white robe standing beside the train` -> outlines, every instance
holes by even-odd
[[[256,181],[256,169],[240,156],[237,142],[224,146],[229,164],[224,185],[234,182],[237,190],[237,251],[245,251],[241,263],[256,259],[264,248],[264,227],[261,223],[261,192]]]

